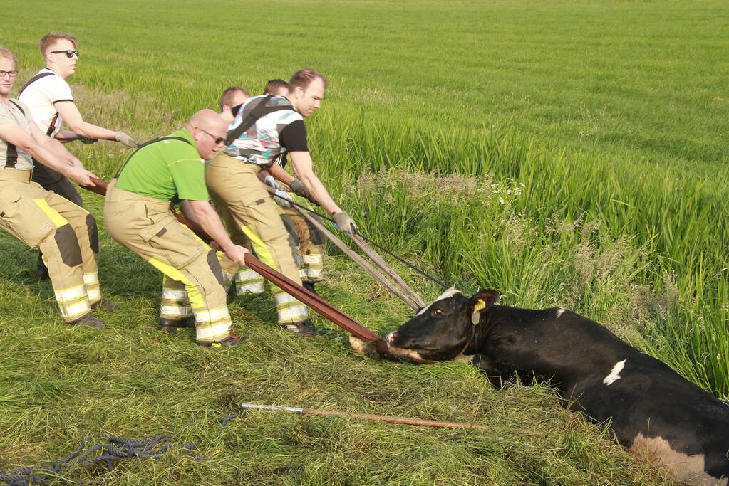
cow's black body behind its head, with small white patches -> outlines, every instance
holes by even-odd
[[[489,314],[477,347],[499,371],[551,378],[573,408],[612,421],[623,445],[680,479],[729,476],[728,405],[579,314],[506,306]]]

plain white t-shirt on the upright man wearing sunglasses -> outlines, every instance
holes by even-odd
[[[71,95],[71,87],[65,79],[50,69],[38,71],[38,74],[42,73],[50,73],[51,76],[44,76],[28,84],[20,92],[17,99],[28,106],[33,121],[36,122],[41,131],[53,137],[58,133],[58,130],[61,130],[61,123],[63,122],[61,113],[58,113],[55,109],[55,103],[73,101],[74,97]],[[51,124],[53,128],[49,131]]]

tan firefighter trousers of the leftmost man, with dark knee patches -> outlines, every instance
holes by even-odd
[[[96,220],[81,207],[31,183],[30,170],[0,170],[0,225],[43,252],[61,316],[73,322],[101,300]]]

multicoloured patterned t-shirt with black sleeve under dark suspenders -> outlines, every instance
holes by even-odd
[[[238,111],[228,131],[235,130],[265,96],[254,96]],[[291,106],[290,109],[268,113],[252,124],[230,146],[225,154],[243,162],[268,167],[279,156],[286,152],[308,151],[306,143],[306,127],[303,116],[283,96],[274,96],[268,100],[267,107]]]

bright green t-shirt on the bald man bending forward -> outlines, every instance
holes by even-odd
[[[205,164],[187,130],[177,130],[162,140],[135,151],[122,168],[117,187],[155,199],[207,201]]]

